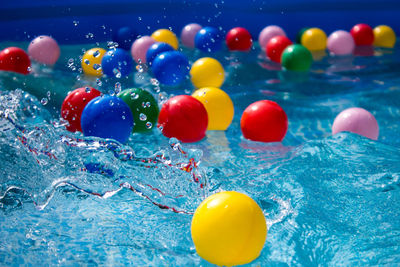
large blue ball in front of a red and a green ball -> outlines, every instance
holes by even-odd
[[[85,136],[112,138],[125,143],[133,129],[132,111],[116,96],[98,96],[83,109],[82,131]]]

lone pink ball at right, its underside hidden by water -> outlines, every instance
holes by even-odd
[[[332,126],[332,134],[352,132],[373,140],[379,136],[379,126],[374,115],[363,108],[349,108],[336,116]]]

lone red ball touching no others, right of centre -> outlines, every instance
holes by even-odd
[[[285,111],[276,102],[260,100],[244,110],[240,127],[246,139],[281,142],[288,128],[288,119]]]

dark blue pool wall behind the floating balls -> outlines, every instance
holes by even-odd
[[[357,23],[387,24],[398,33],[399,17],[399,0],[19,0],[0,6],[0,40],[28,41],[48,34],[60,43],[101,42],[122,26],[147,35],[162,27],[179,33],[191,22],[224,30],[242,26],[254,37],[271,24],[283,27],[291,38],[302,27],[320,27],[329,34]]]

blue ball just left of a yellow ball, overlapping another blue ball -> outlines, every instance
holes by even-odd
[[[163,52],[154,59],[152,70],[160,83],[177,85],[189,74],[189,61],[181,52]]]

